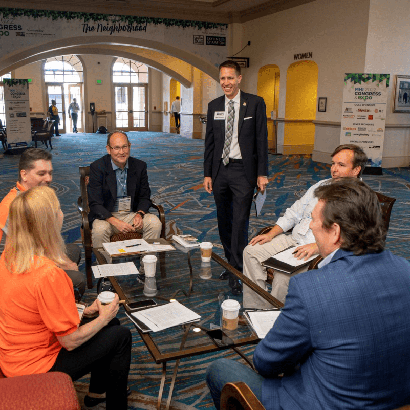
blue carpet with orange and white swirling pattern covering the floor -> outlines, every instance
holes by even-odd
[[[152,198],[166,212],[167,236],[180,231],[191,233],[201,240],[213,242],[215,252],[222,256],[213,197],[202,188],[204,141],[159,132],[130,132],[128,136],[132,144],[131,155],[148,164]],[[65,215],[63,235],[67,242],[81,243],[80,217],[76,208],[80,192],[78,167],[89,165],[104,155],[105,145],[106,135],[101,134],[63,134],[53,138],[52,187],[57,191]],[[308,155],[269,156],[269,160],[268,198],[260,218],[256,218],[252,211],[250,237],[262,227],[272,225],[311,185],[330,175],[329,165],[314,162]],[[18,161],[19,156],[0,155],[1,198],[15,185]],[[410,168],[383,169],[382,176],[365,175],[363,180],[374,190],[397,198],[387,236],[387,249],[408,258]],[[91,302],[95,297],[94,288],[86,291],[83,300]],[[125,319],[123,322],[132,329]],[[253,349],[249,347],[244,351],[252,355]],[[204,372],[208,362],[216,357],[237,356],[230,353],[211,354],[181,362],[171,408],[213,408]],[[155,408],[161,369],[152,361],[134,331],[130,410]],[[77,381],[75,386],[81,401],[88,390],[87,377]],[[94,408],[103,409],[105,406],[101,404]]]

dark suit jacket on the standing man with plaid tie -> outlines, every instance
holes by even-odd
[[[262,97],[243,91],[240,93],[238,143],[246,178],[251,185],[256,186],[258,175],[268,176],[266,105]],[[215,120],[215,111],[225,111],[225,95],[215,98],[208,104],[204,176],[212,177],[212,181],[217,177],[225,142],[225,120]]]

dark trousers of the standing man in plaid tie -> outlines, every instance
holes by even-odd
[[[242,253],[248,245],[249,214],[255,187],[249,184],[243,163],[219,166],[213,181],[219,237],[230,265],[242,272]],[[231,276],[231,275],[230,275]]]

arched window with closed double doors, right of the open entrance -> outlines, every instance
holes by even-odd
[[[137,61],[117,58],[113,64],[115,127],[124,131],[148,130],[148,67]]]

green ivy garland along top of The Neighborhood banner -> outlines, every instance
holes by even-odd
[[[154,17],[137,17],[137,16],[123,16],[115,15],[119,17],[117,20],[111,20],[112,14],[98,14],[98,13],[81,13],[74,11],[53,11],[53,10],[31,10],[31,9],[10,9],[5,7],[0,7],[0,13],[3,17],[34,17],[34,18],[51,18],[52,20],[63,19],[63,20],[84,20],[88,21],[121,21],[121,23],[128,24],[163,24],[166,27],[193,27],[197,30],[209,30],[209,29],[226,29],[228,25],[225,23],[210,23],[209,21],[195,21],[195,20],[177,20],[172,18],[154,18]]]

